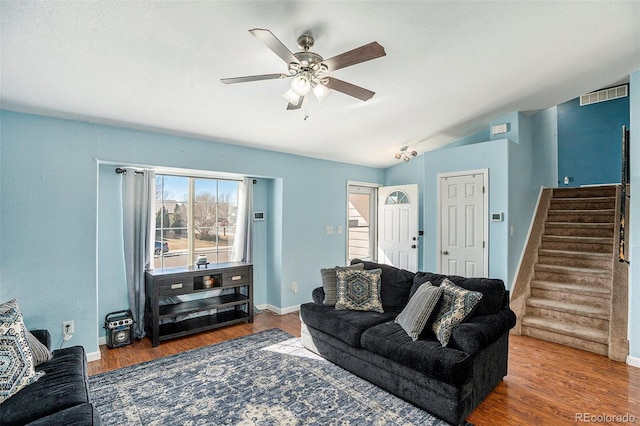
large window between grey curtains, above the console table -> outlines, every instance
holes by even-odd
[[[156,175],[154,268],[231,260],[240,182]]]

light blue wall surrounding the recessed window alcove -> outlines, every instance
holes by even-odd
[[[320,268],[344,264],[344,235],[325,227],[346,228],[346,182],[384,180],[381,169],[8,111],[0,125],[0,298],[18,298],[27,326],[51,330],[54,346],[62,321],[74,320],[72,343],[88,352],[102,314],[125,300],[121,231],[110,226],[120,179],[99,162],[264,178],[256,192],[268,219],[256,235],[268,241],[255,275],[269,281],[260,297],[282,309],[310,300]]]

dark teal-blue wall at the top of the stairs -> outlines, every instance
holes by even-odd
[[[623,125],[629,126],[628,97],[558,105],[558,186],[620,183]]]

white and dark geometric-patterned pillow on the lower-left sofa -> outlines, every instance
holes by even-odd
[[[18,301],[0,305],[0,403],[38,380]]]

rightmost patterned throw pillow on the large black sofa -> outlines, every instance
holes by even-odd
[[[464,321],[473,311],[473,308],[482,299],[482,293],[465,290],[446,278],[440,284],[440,288],[443,290],[442,306],[431,329],[436,333],[440,344],[447,346],[453,328]]]

